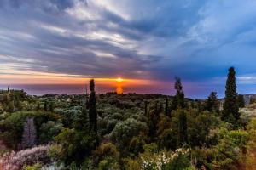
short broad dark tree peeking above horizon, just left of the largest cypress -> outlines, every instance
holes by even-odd
[[[208,96],[205,109],[207,111],[214,111],[217,112],[219,111],[219,102],[217,98],[217,92],[211,92],[211,94]]]

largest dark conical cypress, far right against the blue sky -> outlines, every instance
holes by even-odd
[[[236,93],[236,71],[230,67],[226,82],[226,91],[222,118],[226,122],[234,123],[240,118]]]

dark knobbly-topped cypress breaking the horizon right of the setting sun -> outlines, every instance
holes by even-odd
[[[183,85],[181,79],[179,77],[175,77],[175,85],[176,95],[172,100],[172,109],[184,108],[185,107],[185,95],[183,93]]]

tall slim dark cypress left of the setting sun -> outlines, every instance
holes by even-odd
[[[89,120],[90,129],[97,133],[97,111],[96,111],[96,93],[94,79],[90,80],[90,97],[89,97]]]

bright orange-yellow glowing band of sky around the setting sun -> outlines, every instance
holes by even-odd
[[[0,84],[85,84],[89,83],[91,76],[68,75],[60,73],[44,73],[38,71],[2,71]],[[96,84],[117,87],[117,82],[121,86],[148,85],[154,83],[147,79],[132,78],[94,78]]]

